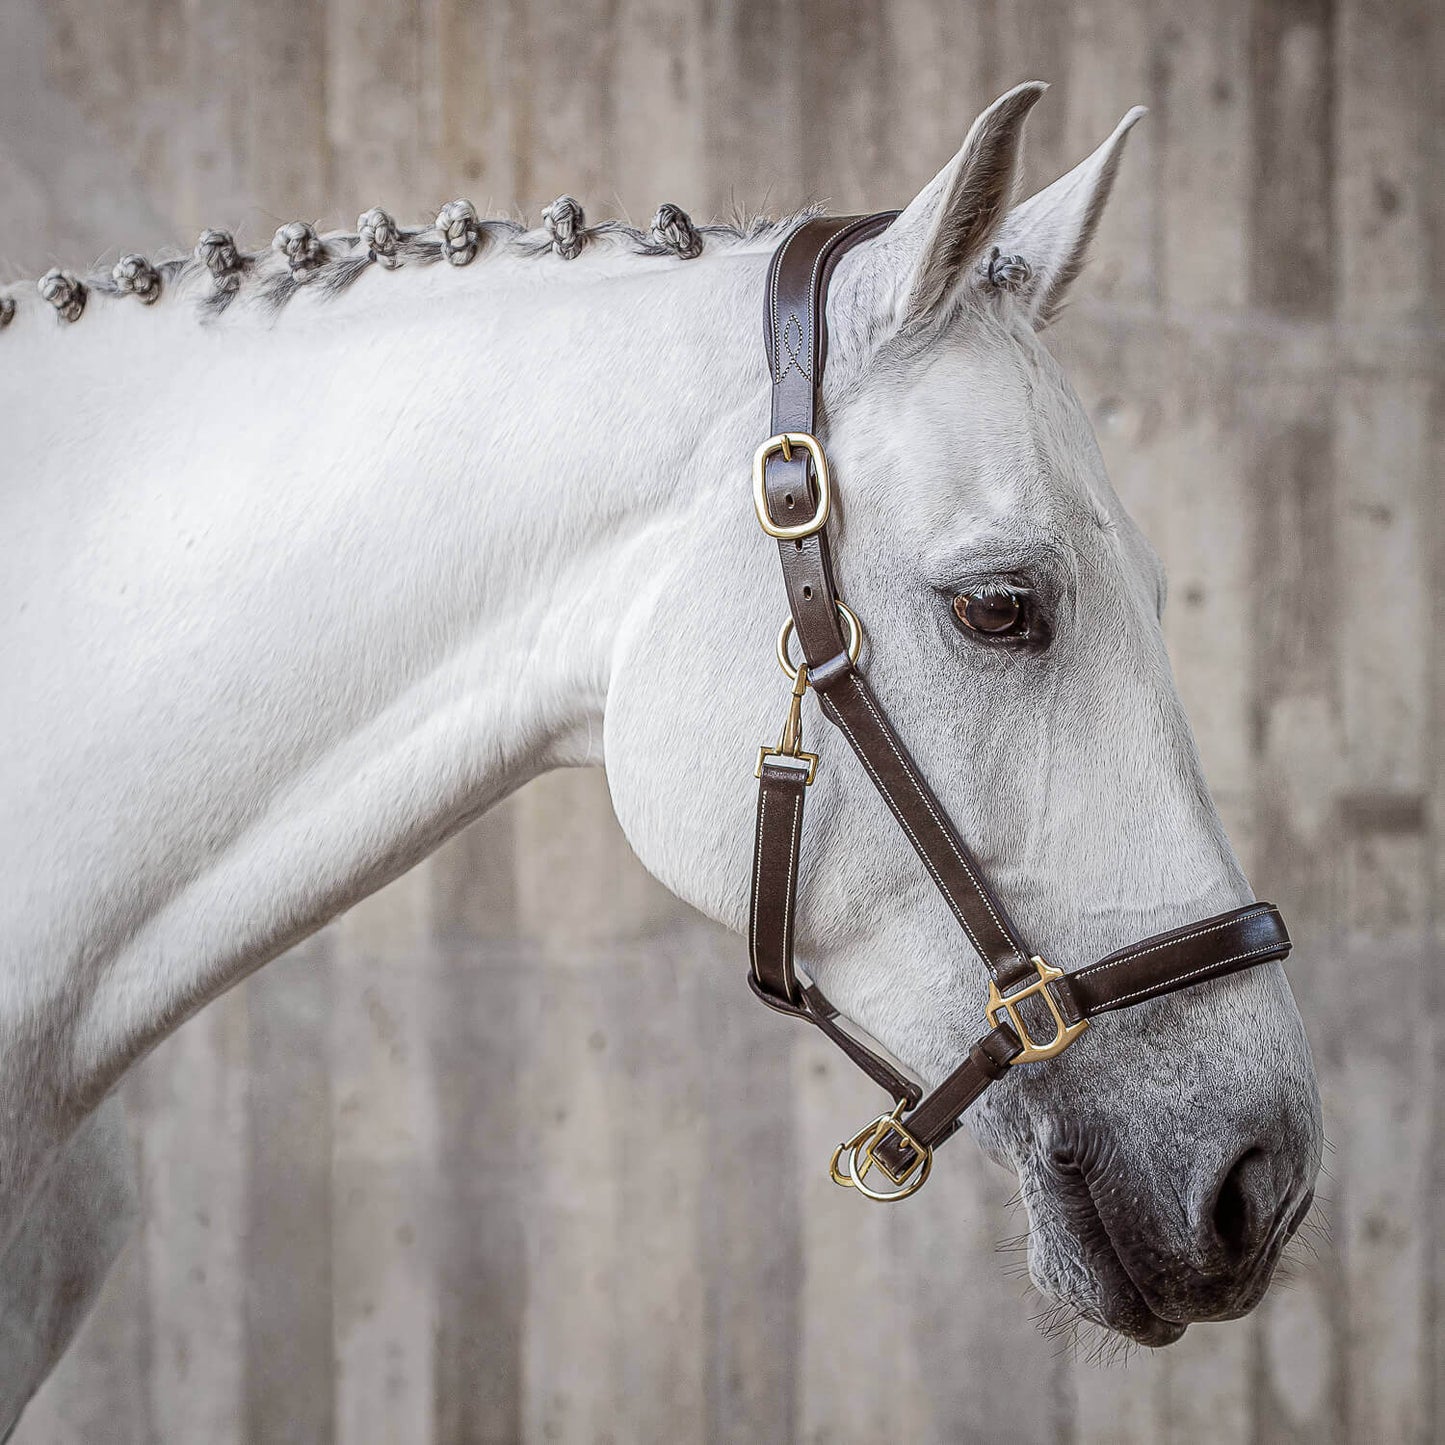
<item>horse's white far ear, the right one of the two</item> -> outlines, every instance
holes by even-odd
[[[1017,292],[1036,327],[1046,327],[1058,315],[1065,292],[1084,269],[1124,137],[1144,114],[1144,107],[1136,105],[1094,155],[1010,211],[993,237],[1000,253],[1017,254],[1027,263],[1027,279],[1009,289]]]

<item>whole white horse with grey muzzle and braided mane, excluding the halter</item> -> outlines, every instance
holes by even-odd
[[[1038,335],[1140,111],[1009,210],[1042,90],[844,260],[824,407],[870,673],[1072,968],[1250,890],[1159,561]],[[604,764],[642,861],[743,928],[786,695],[747,478],[780,234],[675,208],[590,230],[565,199],[525,233],[458,202],[0,292],[0,1429],[130,1224],[116,1081],[506,793]],[[1025,639],[955,624],[980,590],[1014,594]],[[799,957],[936,1082],[983,972],[829,731],[809,721]],[[1023,1182],[1039,1289],[1146,1344],[1254,1306],[1321,1150],[1277,964],[1111,1016],[968,1123]]]

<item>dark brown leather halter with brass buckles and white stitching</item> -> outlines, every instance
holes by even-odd
[[[819,1027],[896,1107],[832,1156],[832,1178],[870,1199],[902,1199],[928,1178],[933,1149],[964,1111],[1016,1064],[1062,1053],[1090,1019],[1241,968],[1283,958],[1285,920],[1272,903],[1250,903],[1157,933],[1075,972],[1052,968],[1019,936],[978,860],[933,796],[858,666],[863,629],[838,597],[828,551],[832,478],[816,439],[816,409],[828,355],[828,282],[838,259],[883,231],[896,211],[821,217],[799,225],[773,253],[767,279],[766,342],[773,386],[773,435],[757,449],[757,519],[777,540],[790,617],[779,660],[793,679],[777,747],[757,757],[757,840],[749,946],[753,991],[770,1009]],[[796,633],[802,663],[788,656]],[[838,1023],[838,1010],[793,967],[793,918],[803,799],[818,757],[802,750],[808,688],[848,740],[874,788],[923,860],[933,883],[988,971],[988,1029],[932,1092],[906,1078],[876,1048]],[[883,1188],[868,1182],[879,1168]]]

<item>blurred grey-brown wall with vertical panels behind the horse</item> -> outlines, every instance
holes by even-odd
[[[893,205],[1032,77],[1042,184],[1149,104],[1053,344],[1332,1143],[1256,1315],[1061,1350],[1013,1182],[840,1195],[871,1090],[553,776],[127,1081],[143,1228],[19,1445],[1439,1439],[1442,62],[1432,0],[6,0],[6,275],[454,195]]]

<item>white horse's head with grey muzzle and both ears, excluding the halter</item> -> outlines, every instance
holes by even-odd
[[[1013,205],[1042,90],[990,107],[899,218],[838,263],[819,435],[867,675],[1023,933],[1068,971],[1253,894],[1170,673],[1163,568],[1040,340],[1142,111]],[[744,412],[754,439],[767,435],[762,392]],[[763,659],[783,598],[772,543],[738,507],[737,452],[718,467],[725,480],[699,487],[629,623],[607,764],[643,860],[741,925],[743,734],[775,695]],[[822,767],[799,961],[936,1084],[981,1032],[987,980],[842,738],[806,727]],[[1152,1345],[1259,1302],[1309,1209],[1322,1137],[1277,962],[1110,1014],[1058,1058],[1009,1069],[965,1123],[1022,1182],[1035,1283]]]

